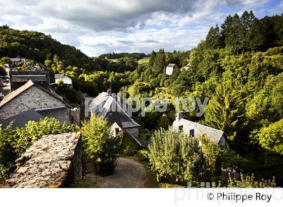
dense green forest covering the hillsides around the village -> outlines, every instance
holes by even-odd
[[[134,119],[150,132],[168,129],[175,116],[175,97],[209,98],[204,116],[185,118],[223,130],[234,152],[230,165],[257,179],[275,177],[283,185],[283,14],[258,19],[253,12],[226,17],[206,39],[187,51],[104,54],[89,58],[42,33],[0,28],[0,64],[4,57],[23,57],[45,65],[51,77],[65,73],[73,89],[54,84],[66,101],[77,105],[80,94],[96,96],[112,84],[129,97],[166,97],[165,113],[153,110]],[[110,59],[117,59],[113,62]],[[172,75],[165,67],[175,63]],[[185,70],[183,67],[188,65]],[[74,95],[76,94],[76,95]]]

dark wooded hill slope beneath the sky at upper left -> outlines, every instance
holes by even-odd
[[[0,57],[25,57],[41,63],[58,57],[63,60],[65,67],[72,65],[81,68],[87,64],[90,68],[95,68],[92,59],[81,53],[79,49],[61,44],[50,35],[5,27],[0,28]]]

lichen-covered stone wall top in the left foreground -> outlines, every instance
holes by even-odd
[[[43,136],[16,163],[9,187],[68,187],[82,177],[81,135],[78,132]]]

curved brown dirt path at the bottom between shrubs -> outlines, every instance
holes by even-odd
[[[145,187],[147,173],[143,165],[126,158],[119,158],[115,172],[106,177],[93,173],[86,177],[98,178],[101,188],[142,188]]]

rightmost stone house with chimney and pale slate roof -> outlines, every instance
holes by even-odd
[[[223,131],[183,119],[183,112],[178,112],[172,128],[177,131],[181,130],[188,136],[207,135],[210,140],[215,141],[219,146],[230,148]]]

